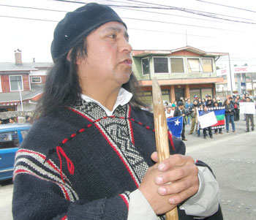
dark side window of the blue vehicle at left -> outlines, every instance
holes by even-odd
[[[0,149],[3,148],[18,148],[18,133],[17,132],[2,132],[0,133]]]

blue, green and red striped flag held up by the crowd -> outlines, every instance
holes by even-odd
[[[206,118],[206,120],[211,121],[211,122],[204,122],[202,117],[203,115],[203,109],[198,110],[198,121],[200,122],[200,129],[203,129],[205,127],[207,127],[208,124],[211,124],[215,121],[215,124],[211,124],[211,129],[223,129],[225,127],[225,107],[209,107],[208,108],[208,112],[211,113],[211,116],[207,116],[207,117],[211,117],[211,118]],[[214,115],[213,115],[214,113]],[[214,120],[215,117],[215,120]],[[201,121],[203,123],[203,126],[201,124]],[[208,123],[208,124],[204,124],[204,123]]]

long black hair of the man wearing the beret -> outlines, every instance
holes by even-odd
[[[87,56],[86,37],[80,38],[75,47],[72,48],[69,60],[67,60],[67,54],[56,59],[46,77],[45,88],[37,104],[35,118],[48,115],[63,107],[74,106],[80,100],[82,90],[76,64],[79,56]],[[146,106],[139,98],[140,88],[133,73],[129,81],[124,83],[122,87],[133,94],[129,102],[132,106]]]

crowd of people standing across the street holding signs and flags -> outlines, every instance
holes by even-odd
[[[211,98],[210,95],[206,96],[206,99],[200,99],[198,96],[194,96],[194,100],[191,103],[190,99],[179,100],[178,102],[173,102],[167,104],[166,109],[166,118],[172,118],[176,116],[184,116],[184,126],[181,132],[181,139],[187,140],[185,137],[185,125],[191,124],[189,134],[193,134],[194,131],[197,132],[197,137],[200,137],[200,123],[197,120],[198,110],[203,110],[202,115],[209,113],[209,107],[225,107],[225,129],[226,132],[230,132],[230,124],[232,132],[236,132],[235,121],[240,120],[240,102],[253,102],[252,97],[249,94],[243,94],[242,97],[239,95],[236,96],[227,96],[224,102],[221,99]],[[249,124],[251,124],[251,130],[254,131],[254,115],[253,114],[244,114],[244,121],[246,121],[246,132],[249,132]],[[191,122],[191,123],[190,123]],[[207,134],[208,132],[208,134]],[[206,138],[209,136],[213,138],[214,134],[223,134],[222,127],[211,129],[211,126],[203,128],[203,137]]]

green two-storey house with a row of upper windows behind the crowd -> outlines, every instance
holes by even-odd
[[[173,102],[181,97],[193,99],[216,95],[215,62],[227,53],[211,53],[190,46],[175,50],[133,50],[133,72],[142,90],[142,99],[151,104],[152,77],[157,77],[163,100]]]

